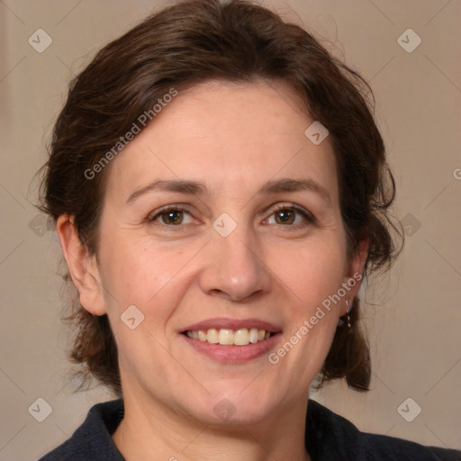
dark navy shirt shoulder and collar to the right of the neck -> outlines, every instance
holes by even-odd
[[[306,448],[316,461],[461,461],[461,451],[361,432],[354,424],[310,400]]]

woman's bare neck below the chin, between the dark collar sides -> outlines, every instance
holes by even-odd
[[[126,461],[310,461],[304,443],[305,409],[274,413],[247,425],[218,427],[191,420],[149,401],[149,408],[125,397],[125,415],[113,441]]]

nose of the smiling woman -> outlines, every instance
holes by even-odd
[[[241,226],[227,237],[216,233],[205,250],[199,276],[205,294],[242,302],[270,290],[271,273],[258,240],[249,231],[241,230]]]

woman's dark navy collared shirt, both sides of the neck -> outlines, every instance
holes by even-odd
[[[71,438],[39,461],[124,461],[112,439],[122,419],[122,400],[98,403]],[[360,432],[312,400],[307,405],[305,445],[312,461],[461,461],[461,451]]]

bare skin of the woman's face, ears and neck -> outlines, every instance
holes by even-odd
[[[334,154],[328,138],[318,146],[306,138],[312,122],[280,81],[193,86],[113,160],[97,258],[79,242],[73,218],[59,218],[80,302],[107,313],[115,335],[125,418],[113,440],[128,461],[309,459],[309,386],[358,283],[276,365],[267,355],[218,363],[179,331],[213,317],[258,318],[283,330],[273,352],[362,273],[366,242],[348,258]],[[127,203],[153,181],[179,178],[207,194],[151,190]],[[281,178],[309,178],[330,199],[313,190],[258,192]],[[183,223],[162,221],[158,210],[170,204],[186,209]],[[294,221],[280,221],[277,204]],[[223,212],[237,223],[228,237],[212,227]],[[132,304],[144,315],[135,330],[120,320]],[[222,399],[235,409],[229,420],[213,411]]]

